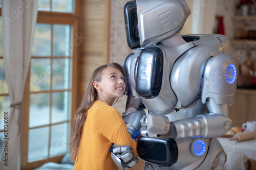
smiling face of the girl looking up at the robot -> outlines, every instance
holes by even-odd
[[[97,83],[98,98],[109,105],[112,105],[116,98],[123,96],[125,90],[124,76],[117,68],[106,67],[103,70],[102,80]]]

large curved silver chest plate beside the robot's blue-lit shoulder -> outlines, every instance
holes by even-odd
[[[176,108],[186,108],[199,98],[204,66],[216,54],[220,52],[214,47],[197,46],[176,60],[170,74],[170,84],[179,100]]]

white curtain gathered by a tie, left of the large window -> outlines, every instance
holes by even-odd
[[[0,169],[21,167],[20,123],[23,93],[31,58],[31,48],[37,19],[38,0],[2,0],[3,57],[8,90],[11,99],[8,113],[8,134],[2,151]],[[7,156],[6,156],[7,155]],[[8,164],[7,164],[8,163]],[[8,165],[8,166],[7,166]]]

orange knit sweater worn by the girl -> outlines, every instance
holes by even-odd
[[[118,169],[111,159],[113,143],[130,145],[138,157],[137,144],[127,132],[121,114],[107,103],[96,101],[87,111],[74,170]]]

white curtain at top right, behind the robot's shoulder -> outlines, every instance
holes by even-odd
[[[194,0],[193,34],[212,34],[216,18],[217,0]]]

